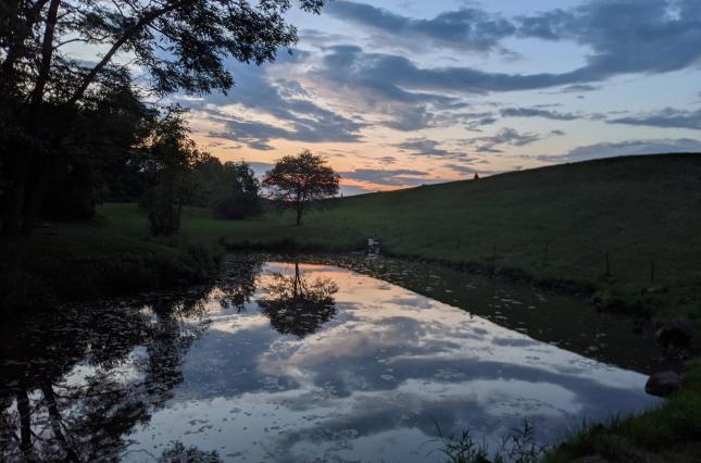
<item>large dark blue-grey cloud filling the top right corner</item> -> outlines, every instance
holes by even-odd
[[[524,16],[518,35],[589,48],[577,82],[664,73],[699,62],[701,3],[696,0],[590,0],[571,10]]]

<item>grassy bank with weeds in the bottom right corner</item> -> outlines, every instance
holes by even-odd
[[[442,437],[446,461],[455,463],[696,463],[701,461],[701,361],[689,364],[684,388],[663,405],[638,416],[614,416],[581,426],[561,443],[535,443],[537,425],[525,422],[501,446],[489,446],[470,433]],[[581,460],[579,460],[581,459]]]

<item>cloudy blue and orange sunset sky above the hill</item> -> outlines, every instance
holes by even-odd
[[[701,152],[701,0],[336,0],[289,20],[291,54],[173,98],[224,161],[306,148],[353,195]]]

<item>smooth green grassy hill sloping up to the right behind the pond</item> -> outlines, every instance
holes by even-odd
[[[291,214],[227,223],[190,211],[184,235],[323,249],[362,249],[376,237],[397,255],[572,281],[665,317],[701,316],[700,232],[701,155],[663,154],[345,198],[301,227]]]

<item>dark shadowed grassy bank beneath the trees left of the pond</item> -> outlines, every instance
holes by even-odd
[[[214,242],[149,237],[135,204],[107,207],[92,223],[50,223],[30,239],[0,241],[0,308],[200,283],[222,254]]]

